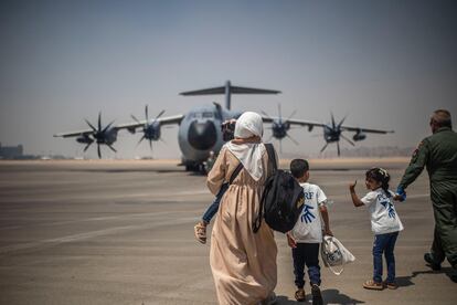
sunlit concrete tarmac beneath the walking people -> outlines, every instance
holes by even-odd
[[[0,161],[0,304],[216,304],[210,248],[193,236],[213,196],[205,177],[176,164]],[[357,257],[340,276],[321,266],[326,304],[457,303],[449,264],[433,272],[423,261],[434,228],[426,172],[396,204],[405,227],[395,248],[398,290],[362,287],[372,276],[373,235],[348,183],[358,179],[362,196],[364,171],[383,166],[394,188],[406,165],[311,160],[310,181],[333,201],[331,230]],[[277,304],[295,304],[290,249],[283,234],[276,241]]]

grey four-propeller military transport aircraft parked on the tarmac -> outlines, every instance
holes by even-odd
[[[225,107],[222,107],[217,103],[213,103],[212,105],[196,106],[189,111],[187,114],[179,114],[167,117],[162,117],[164,111],[161,111],[153,119],[150,120],[148,117],[148,107],[146,106],[146,119],[139,120],[132,115],[131,117],[135,120],[132,123],[113,126],[111,122],[105,127],[103,127],[102,125],[102,114],[99,113],[97,128],[86,119],[86,123],[91,127],[91,129],[77,130],[72,133],[61,133],[54,135],[54,137],[76,137],[76,141],[86,144],[84,151],[86,151],[88,147],[94,141],[96,141],[98,157],[100,158],[102,152],[99,145],[106,145],[113,151],[116,151],[116,149],[113,147],[113,144],[117,139],[117,133],[121,129],[127,129],[131,134],[135,134],[137,130],[141,130],[144,135],[140,141],[147,139],[149,140],[149,144],[152,147],[152,141],[160,139],[160,129],[162,126],[178,124],[178,143],[182,152],[182,165],[185,166],[187,170],[204,170],[203,165],[210,156],[210,152],[217,152],[224,145],[221,130],[222,123],[232,118],[237,118],[243,113],[231,109],[231,95],[279,93],[279,91],[273,90],[232,86],[231,82],[227,81],[224,86],[180,93],[183,96],[224,94]],[[355,135],[353,136],[353,140],[355,141],[364,139],[366,137],[365,133],[392,133],[390,130],[343,126],[342,123],[344,122],[344,118],[338,125],[336,125],[333,115],[331,116],[332,124],[326,125],[310,120],[293,119],[291,116],[294,114],[295,112],[287,119],[283,119],[280,114],[280,106],[279,117],[272,117],[266,113],[263,113],[264,122],[272,124],[272,137],[275,137],[278,140],[288,137],[297,144],[297,141],[288,135],[288,130],[290,129],[291,125],[308,127],[309,132],[311,132],[313,127],[322,127],[326,146],[322,148],[321,151],[326,149],[329,143],[336,141],[338,145],[339,155],[340,138],[343,138],[353,145],[351,140],[341,135],[341,132],[354,132]]]

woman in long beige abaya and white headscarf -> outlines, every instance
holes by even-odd
[[[240,162],[243,169],[221,200],[212,230],[210,264],[222,305],[273,304],[277,248],[272,229],[252,225],[258,213],[264,182],[273,171],[262,144],[263,120],[252,112],[237,120],[235,138],[225,144],[208,175],[216,194]]]

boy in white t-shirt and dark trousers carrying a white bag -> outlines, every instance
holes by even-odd
[[[308,183],[309,165],[307,160],[295,159],[290,162],[290,172],[304,188],[305,206],[294,229],[287,233],[287,242],[293,251],[295,284],[297,292],[295,298],[305,302],[305,264],[311,286],[312,304],[322,304],[320,293],[319,245],[322,242],[322,227],[320,215],[325,223],[325,233],[332,235],[329,228],[329,215],[326,208],[327,197],[319,186]],[[320,214],[320,215],[319,215]]]

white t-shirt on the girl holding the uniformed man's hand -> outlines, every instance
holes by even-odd
[[[379,188],[360,199],[368,207],[371,215],[371,231],[376,235],[403,230],[402,221],[392,200],[394,193],[389,192],[391,193],[390,198],[382,188]]]

